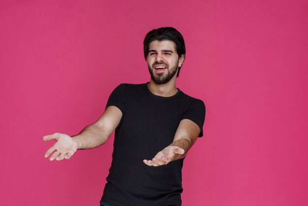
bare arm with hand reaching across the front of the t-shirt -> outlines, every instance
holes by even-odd
[[[183,119],[179,124],[173,142],[158,152],[152,160],[143,160],[143,162],[146,165],[156,167],[184,158],[197,140],[199,133],[200,128],[196,123],[189,119]]]

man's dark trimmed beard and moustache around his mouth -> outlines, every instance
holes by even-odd
[[[154,74],[155,65],[165,65],[167,67],[167,69],[164,72]],[[150,65],[148,65],[149,71],[150,71],[150,74],[151,74],[151,79],[156,84],[166,84],[167,82],[169,82],[170,79],[172,79],[172,77],[176,74],[176,72],[178,70],[178,66],[179,66],[179,61],[175,64],[174,67],[172,67],[170,69],[169,69],[168,65],[164,62],[155,62],[152,65],[152,67],[150,67]]]

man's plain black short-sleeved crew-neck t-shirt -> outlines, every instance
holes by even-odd
[[[178,89],[172,97],[154,95],[148,84],[121,84],[106,107],[122,113],[115,131],[112,164],[101,202],[112,206],[181,206],[183,159],[147,166],[157,152],[173,142],[183,119],[196,123],[203,136],[205,106]]]

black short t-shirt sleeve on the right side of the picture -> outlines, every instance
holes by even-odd
[[[185,113],[182,115],[181,120],[189,119],[196,123],[200,128],[200,134],[198,137],[203,136],[203,124],[205,120],[205,105],[201,100],[194,100],[188,105]]]

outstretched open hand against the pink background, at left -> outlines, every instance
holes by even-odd
[[[69,159],[78,149],[77,141],[68,135],[55,133],[53,135],[46,135],[43,137],[44,141],[49,141],[52,139],[55,139],[56,143],[50,147],[44,155],[44,157],[48,157],[52,154],[49,158],[50,161],[55,159],[60,161],[64,158]]]

